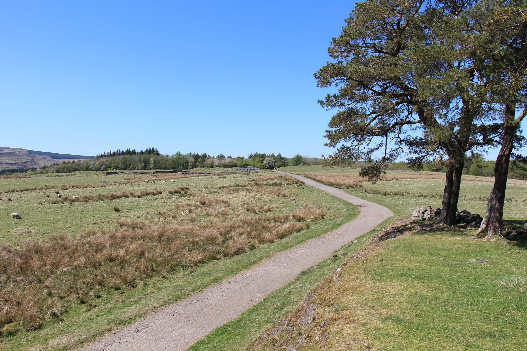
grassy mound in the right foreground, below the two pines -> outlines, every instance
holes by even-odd
[[[344,267],[337,282],[327,278],[315,290],[317,320],[340,319],[311,325],[299,350],[525,349],[524,243],[467,234],[445,229],[389,240]]]

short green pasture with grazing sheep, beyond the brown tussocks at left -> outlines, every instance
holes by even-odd
[[[197,178],[176,174],[106,176],[99,172],[82,172],[73,176],[0,179],[0,216],[6,219],[11,213],[22,216],[22,220],[0,220],[0,241],[19,244],[25,239],[40,239],[52,233],[70,235],[92,229],[111,229],[119,219],[155,215],[169,198],[174,200],[168,192],[177,188],[175,184],[200,189],[204,186],[201,183],[216,184],[211,182],[213,176],[206,176],[208,180],[201,182],[190,180]],[[103,180],[108,183],[102,183]],[[145,180],[149,180],[148,183]],[[128,195],[123,197],[123,193]],[[159,194],[152,195],[156,193]],[[62,198],[58,198],[58,194]],[[74,196],[79,196],[80,200],[75,200]],[[121,212],[116,212],[115,206]]]

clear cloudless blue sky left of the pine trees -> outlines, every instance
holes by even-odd
[[[329,154],[313,73],[353,6],[0,0],[0,146]]]

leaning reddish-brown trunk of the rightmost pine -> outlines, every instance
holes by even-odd
[[[514,119],[515,111],[514,104],[505,108],[506,117],[503,123],[502,146],[494,165],[494,186],[489,199],[487,199],[487,210],[480,225],[479,233],[483,233],[488,229],[487,237],[489,238],[494,234],[501,235],[505,188],[507,186],[507,176],[509,175],[511,153],[514,148],[514,138],[523,116],[525,116],[524,109],[522,114],[517,119]]]

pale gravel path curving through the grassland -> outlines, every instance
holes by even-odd
[[[238,317],[292,279],[320,262],[341,246],[393,216],[391,210],[311,179],[276,171],[304,180],[306,184],[344,199],[360,209],[352,221],[329,233],[274,256],[224,282],[191,295],[179,303],[135,322],[87,346],[86,350],[182,350],[222,324]]]

